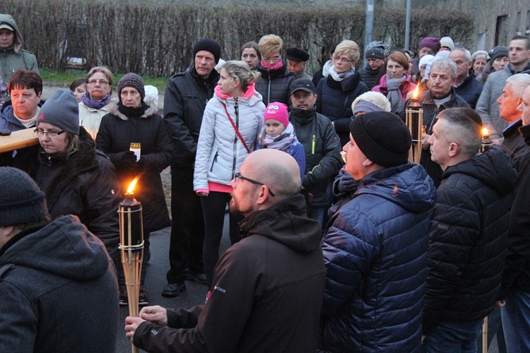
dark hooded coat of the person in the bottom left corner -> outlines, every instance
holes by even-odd
[[[0,268],[0,352],[116,351],[114,265],[77,217],[16,234]]]

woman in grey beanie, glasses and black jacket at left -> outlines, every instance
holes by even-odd
[[[45,192],[52,219],[79,217],[117,265],[119,182],[110,160],[79,126],[73,92],[57,90],[48,98],[40,108],[35,135],[40,145],[19,150],[13,167],[30,174]]]

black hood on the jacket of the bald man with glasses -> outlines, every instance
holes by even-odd
[[[317,249],[322,239],[319,222],[307,218],[305,198],[301,194],[252,213],[240,222],[240,231],[243,237],[259,234],[301,253]]]

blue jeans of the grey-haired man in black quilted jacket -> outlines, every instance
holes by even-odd
[[[484,319],[471,323],[439,323],[423,340],[422,352],[473,352],[476,353],[476,340],[481,335]]]

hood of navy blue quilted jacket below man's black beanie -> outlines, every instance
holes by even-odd
[[[378,170],[358,181],[353,195],[373,194],[413,212],[422,213],[435,204],[435,184],[420,164],[408,163]]]

